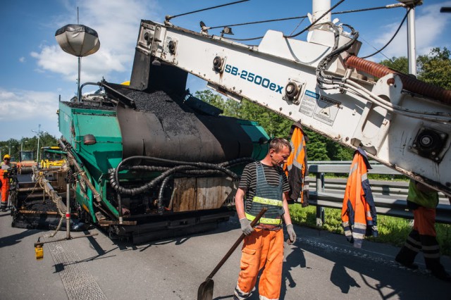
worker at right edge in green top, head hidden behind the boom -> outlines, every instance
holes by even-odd
[[[410,180],[407,206],[414,213],[414,227],[397,254],[395,261],[407,268],[417,269],[415,256],[423,251],[426,268],[432,275],[451,282],[451,276],[446,273],[440,263],[440,249],[435,239],[435,207],[438,205],[438,192],[421,182]]]

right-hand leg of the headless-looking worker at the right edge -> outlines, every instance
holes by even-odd
[[[421,240],[421,246],[424,255],[426,268],[431,270],[432,275],[442,280],[451,280],[440,263],[440,247],[435,238],[435,208],[419,207],[416,212],[418,218],[418,230]]]

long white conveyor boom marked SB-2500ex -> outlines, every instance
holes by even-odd
[[[376,161],[451,196],[451,92],[357,58],[361,43],[350,29],[322,23],[307,42],[269,30],[248,46],[142,20],[130,86],[146,89],[142,75],[155,76],[155,63],[191,73],[233,99],[301,120],[352,149],[362,146]]]

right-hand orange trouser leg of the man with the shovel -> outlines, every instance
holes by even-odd
[[[282,284],[283,230],[268,231],[264,249],[268,249],[266,263],[259,281],[260,299],[279,299]]]

